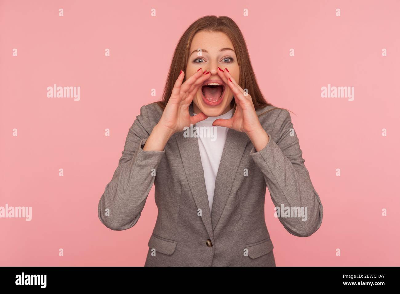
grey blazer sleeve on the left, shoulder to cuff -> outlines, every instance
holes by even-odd
[[[126,230],[138,222],[154,183],[154,170],[165,153],[142,149],[149,136],[146,129],[150,130],[150,122],[146,106],[142,106],[126,136],[118,167],[98,203],[98,217],[111,230]]]

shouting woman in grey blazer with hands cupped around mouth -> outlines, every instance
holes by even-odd
[[[290,114],[262,96],[226,16],[200,18],[180,38],[162,101],[142,106],[128,132],[101,222],[134,226],[153,183],[158,216],[145,266],[275,266],[267,187],[290,234],[321,225]]]

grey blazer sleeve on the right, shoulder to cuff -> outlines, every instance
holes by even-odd
[[[280,209],[278,219],[284,228],[294,236],[308,237],[321,226],[323,207],[304,165],[299,140],[287,110],[280,111],[272,135],[268,136],[266,147],[259,152],[253,147],[250,156],[264,175],[272,202]],[[282,204],[284,208],[304,209],[306,218],[299,214],[298,217],[284,217]]]

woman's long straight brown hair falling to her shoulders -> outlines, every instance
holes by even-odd
[[[162,100],[156,103],[160,105],[162,109],[164,109],[167,105],[180,70],[182,69],[184,70],[184,72],[186,72],[186,64],[188,62],[190,54],[190,45],[192,44],[194,35],[202,30],[208,32],[223,32],[230,38],[234,46],[240,70],[238,84],[243,89],[248,90],[248,93],[252,97],[254,108],[257,110],[266,106],[273,106],[266,101],[260,91],[260,88],[258,87],[256,76],[254,75],[253,67],[250,62],[246,42],[244,41],[242,32],[240,31],[239,27],[228,16],[217,17],[214,15],[208,15],[199,18],[198,20],[193,22],[180,37],[178,45],[176,45],[175,48],[174,56],[172,57],[170,70],[168,72],[168,78],[166,81],[164,92],[162,94]],[[235,99],[232,99],[231,104],[233,108],[236,108]],[[268,110],[267,112],[269,112],[270,110]]]

